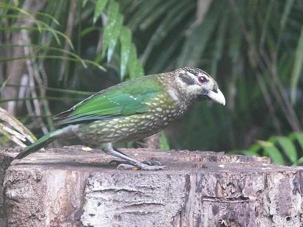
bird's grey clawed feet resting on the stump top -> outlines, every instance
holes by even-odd
[[[117,169],[132,169],[132,170],[163,170],[164,166],[161,166],[159,161],[144,161],[138,163],[138,165],[132,165],[127,161],[112,160],[110,163],[116,163]]]

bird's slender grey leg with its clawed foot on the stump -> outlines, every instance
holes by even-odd
[[[157,165],[147,165],[145,163],[140,162],[139,160],[136,160],[132,157],[129,157],[128,155],[122,153],[121,151],[115,149],[112,147],[112,149],[108,152],[107,154],[113,155],[115,157],[121,158],[125,160],[125,163],[121,163],[117,166],[117,169],[123,168],[123,169],[133,169],[135,167],[138,167],[139,169],[142,170],[162,170],[164,169],[163,166],[157,166]],[[152,164],[152,163],[151,163]]]

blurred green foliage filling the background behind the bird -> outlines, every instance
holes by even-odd
[[[38,12],[28,2],[0,3],[1,102],[17,102],[11,109],[37,136],[89,92],[192,66],[215,78],[226,106],[195,104],[165,130],[168,142],[161,135],[163,146],[301,164],[302,1],[48,0]],[[23,56],[12,54],[18,48]],[[15,59],[27,76],[12,80]],[[9,88],[17,96],[4,99]]]

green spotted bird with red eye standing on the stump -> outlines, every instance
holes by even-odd
[[[217,82],[198,68],[183,67],[125,81],[55,115],[58,128],[27,146],[15,159],[58,139],[78,138],[124,160],[117,168],[162,170],[159,162],[141,162],[113,145],[154,135],[180,118],[193,103],[207,99],[225,105]]]

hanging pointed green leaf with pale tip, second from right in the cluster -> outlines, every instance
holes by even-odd
[[[120,43],[121,43],[121,62],[120,62],[120,76],[121,81],[123,81],[126,66],[129,58],[130,48],[132,42],[132,32],[129,28],[122,27],[120,33]]]

